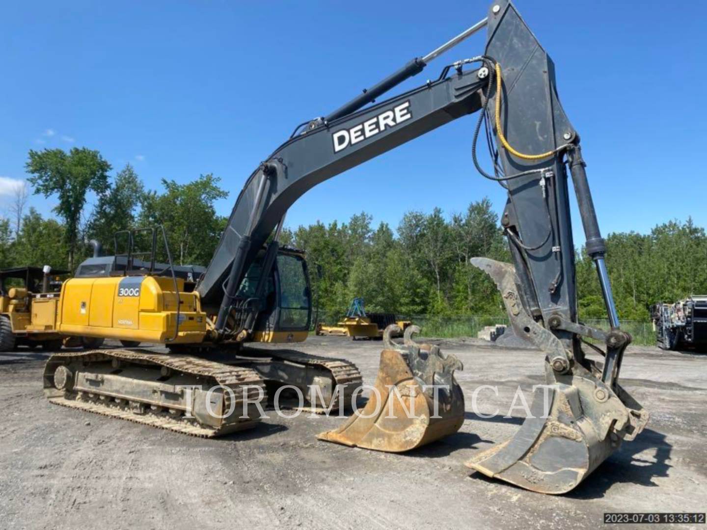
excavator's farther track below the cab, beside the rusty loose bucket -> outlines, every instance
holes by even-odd
[[[354,391],[363,384],[363,377],[361,377],[361,372],[354,363],[350,363],[348,360],[332,358],[332,357],[320,357],[319,355],[310,355],[309,353],[304,353],[296,350],[263,350],[259,348],[247,348],[244,351],[244,355],[254,355],[258,358],[269,358],[270,361],[255,363],[255,369],[260,372],[264,379],[267,379],[267,373],[262,370],[262,366],[265,363],[286,363],[289,366],[299,366],[300,370],[306,371],[308,369],[320,370],[322,372],[327,372],[329,377],[333,379],[332,389],[337,386],[344,387],[344,391],[341,394],[334,394],[332,401],[329,401],[328,406],[323,406],[323,404],[305,404],[305,406],[299,407],[288,407],[288,408],[299,408],[302,411],[314,412],[317,414],[327,413],[329,410],[334,410],[339,407],[339,401],[344,399],[344,408],[351,407],[351,396]],[[281,372],[280,372],[281,373]],[[290,384],[290,382],[284,382],[285,384]],[[304,391],[305,389],[303,389]],[[309,394],[305,392],[305,396]],[[286,404],[287,405],[287,404]]]

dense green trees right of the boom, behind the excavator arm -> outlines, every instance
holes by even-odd
[[[505,314],[491,279],[469,258],[510,261],[498,216],[488,199],[463,213],[444,216],[411,211],[397,226],[371,226],[367,213],[349,223],[315,223],[286,232],[310,264],[318,307],[341,314],[349,300],[363,296],[371,311],[398,314],[470,316]],[[707,235],[688,218],[656,226],[648,234],[614,232],[607,237],[607,266],[619,317],[650,318],[650,305],[707,293]],[[606,310],[592,259],[576,251],[580,318],[604,319]]]

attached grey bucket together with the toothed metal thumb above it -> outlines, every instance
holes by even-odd
[[[530,415],[515,436],[477,454],[467,466],[527,490],[566,493],[617,450],[621,440],[633,440],[648,422],[648,413],[618,384],[604,384],[600,366],[592,360],[577,359],[563,373],[554,370],[551,360],[563,346],[525,312],[513,266],[486,258],[474,258],[472,264],[496,281],[515,333],[547,353],[547,384],[534,388]]]

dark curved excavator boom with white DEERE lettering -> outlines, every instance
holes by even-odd
[[[240,192],[211,264],[197,285],[202,304],[221,305],[233,264],[238,269],[237,285],[257,250],[305,192],[453,119],[477,112],[484,86],[486,82],[476,71],[440,76],[364,110],[331,122],[316,122],[288,139],[257,167]],[[251,230],[246,231],[249,224]]]

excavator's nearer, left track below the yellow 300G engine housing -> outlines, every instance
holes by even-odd
[[[117,372],[136,372],[141,378],[122,377],[120,381]],[[193,417],[189,418],[182,406],[183,391],[170,388],[170,380],[180,386],[201,387],[193,390]],[[95,388],[86,388],[86,382]],[[117,391],[115,384],[110,386],[112,382],[122,383],[122,388]],[[214,387],[219,391],[211,394],[211,405],[217,412],[233,411],[223,414],[224,418],[209,418],[200,406],[200,398]],[[259,414],[251,404],[267,402],[262,378],[249,367],[137,349],[55,353],[45,365],[44,388],[52,404],[204,438],[255,427]],[[226,389],[233,391],[233,398]],[[244,399],[248,402],[247,417],[241,418]]]

